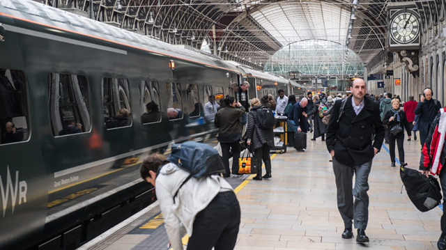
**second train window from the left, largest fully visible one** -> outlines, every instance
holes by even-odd
[[[89,81],[83,75],[48,74],[49,112],[54,136],[91,130]]]

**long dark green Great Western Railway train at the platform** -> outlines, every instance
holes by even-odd
[[[0,0],[0,40],[0,249],[75,249],[153,203],[141,159],[213,141],[203,105],[233,95],[231,82],[252,82],[249,98],[291,93],[285,79],[36,1]]]

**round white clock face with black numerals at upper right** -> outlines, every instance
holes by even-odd
[[[420,22],[413,13],[399,13],[390,21],[390,36],[396,42],[408,44],[417,40],[419,35]]]

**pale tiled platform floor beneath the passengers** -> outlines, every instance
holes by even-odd
[[[325,142],[320,138],[310,141],[310,136],[305,153],[289,148],[285,154],[273,155],[271,180],[256,181],[249,176],[231,181],[238,185],[236,192],[242,208],[236,250],[436,249],[443,211],[435,208],[419,212],[406,192],[401,194],[399,168],[390,166],[387,144],[375,157],[369,176],[366,233],[371,241],[364,245],[356,244],[355,239],[342,239],[344,224],[337,210],[330,155]],[[420,141],[404,143],[408,167],[416,169]],[[128,233],[103,237],[98,244],[84,249],[167,249],[162,221],[156,230],[141,229],[148,221],[153,224],[159,207],[152,212],[150,216],[144,214],[149,218],[130,223],[134,229]]]

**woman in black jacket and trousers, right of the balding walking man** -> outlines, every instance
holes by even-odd
[[[387,130],[389,130],[389,151],[390,151],[390,161],[392,164],[390,166],[395,166],[395,141],[398,143],[398,154],[399,162],[401,166],[406,166],[404,163],[404,127],[406,128],[407,134],[410,139],[410,126],[406,118],[406,113],[399,109],[399,100],[394,98],[392,100],[392,109],[387,111],[384,115],[383,125],[387,125]],[[400,125],[403,130],[398,134],[392,134],[392,127]]]

